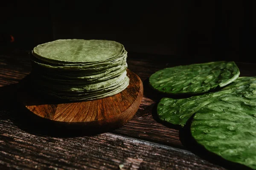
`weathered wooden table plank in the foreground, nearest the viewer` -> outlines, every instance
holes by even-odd
[[[212,169],[193,153],[113,133],[51,137],[21,129],[10,113],[0,113],[0,164],[17,169]],[[29,133],[27,132],[29,130]]]

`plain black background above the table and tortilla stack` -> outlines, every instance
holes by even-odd
[[[122,43],[130,54],[255,62],[256,1],[139,2],[1,2],[1,50],[30,50],[57,39],[105,39]]]

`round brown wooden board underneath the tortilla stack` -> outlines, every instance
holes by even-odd
[[[85,102],[54,102],[29,91],[29,81],[17,93],[22,108],[47,126],[49,123],[100,133],[121,127],[137,112],[143,97],[140,77],[127,70],[128,87],[119,94]]]

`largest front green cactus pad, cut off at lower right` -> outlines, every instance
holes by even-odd
[[[231,90],[195,113],[191,133],[210,152],[256,169],[256,79]]]

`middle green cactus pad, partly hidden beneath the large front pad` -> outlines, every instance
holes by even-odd
[[[209,103],[216,102],[225,96],[234,97],[244,94],[247,97],[254,97],[256,91],[253,91],[253,94],[247,91],[246,87],[253,87],[252,82],[255,80],[256,78],[254,77],[239,77],[235,82],[227,85],[218,92],[192,96],[185,99],[162,98],[157,105],[157,114],[162,121],[183,127],[194,113],[198,112],[204,106],[209,105]]]

